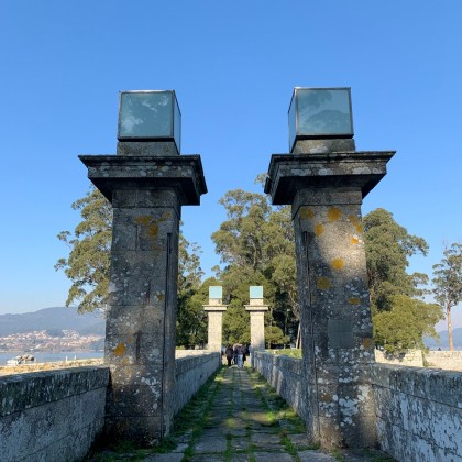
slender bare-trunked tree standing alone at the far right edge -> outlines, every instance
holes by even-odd
[[[433,294],[446,312],[449,350],[454,351],[451,310],[462,301],[462,244],[454,242],[443,255],[441,262],[433,265]]]

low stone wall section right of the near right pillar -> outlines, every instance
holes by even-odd
[[[381,448],[398,461],[462,461],[462,374],[375,364]]]

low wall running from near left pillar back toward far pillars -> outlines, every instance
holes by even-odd
[[[191,352],[194,353],[191,354]],[[218,352],[210,353],[207,350],[178,350],[176,352],[175,365],[176,391],[175,403],[173,404],[174,415],[183,409],[193,395],[220,367],[221,355]]]

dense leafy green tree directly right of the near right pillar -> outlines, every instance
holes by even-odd
[[[419,299],[428,276],[407,274],[406,268],[410,256],[427,254],[428,244],[387,210],[376,209],[363,222],[374,340],[389,352],[422,348],[422,336],[437,336],[435,323],[442,314],[437,305]]]

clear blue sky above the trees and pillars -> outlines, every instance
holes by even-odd
[[[261,191],[288,151],[293,88],[351,87],[356,148],[397,151],[363,213],[425,238],[409,270],[431,275],[462,242],[461,18],[460,0],[0,0],[0,314],[64,305],[56,234],[89,185],[77,155],[116,153],[130,89],[176,90],[182,153],[201,154],[209,189],[184,233],[210,273],[218,200]]]

